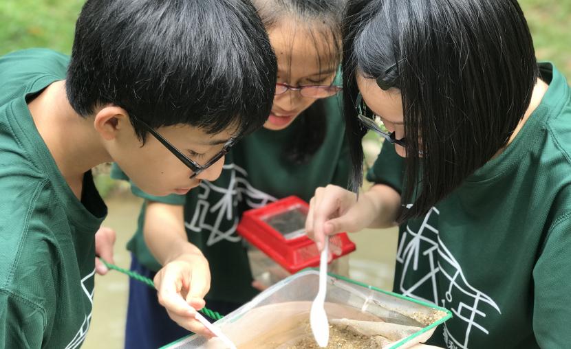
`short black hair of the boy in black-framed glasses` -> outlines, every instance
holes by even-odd
[[[249,133],[270,113],[276,74],[248,0],[87,0],[66,89],[83,116],[114,104],[152,128]],[[144,129],[131,124],[144,142]]]

